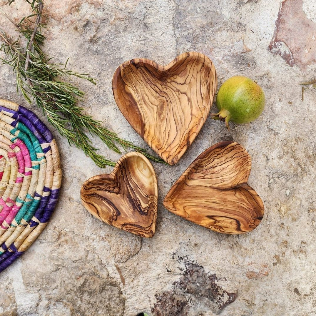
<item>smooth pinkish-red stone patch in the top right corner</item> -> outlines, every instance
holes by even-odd
[[[301,70],[316,62],[316,24],[307,18],[302,0],[281,3],[268,50]]]

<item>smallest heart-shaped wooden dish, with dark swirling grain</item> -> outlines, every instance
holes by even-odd
[[[85,208],[101,221],[142,237],[154,236],[157,179],[144,155],[124,155],[111,173],[85,181],[80,195]]]

